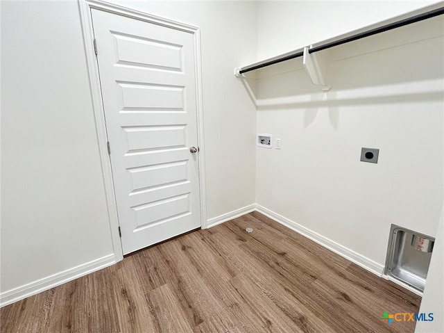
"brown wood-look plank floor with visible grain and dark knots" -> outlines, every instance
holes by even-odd
[[[253,233],[245,232],[253,227]],[[420,297],[250,213],[1,309],[1,332],[413,332]]]

